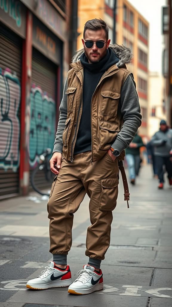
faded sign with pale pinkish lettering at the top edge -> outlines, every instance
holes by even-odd
[[[1,0],[0,0],[1,1]],[[65,20],[55,8],[45,0],[21,0],[51,31],[65,40]]]

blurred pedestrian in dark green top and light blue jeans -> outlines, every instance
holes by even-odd
[[[144,146],[143,140],[138,133],[136,133],[133,141],[125,150],[125,157],[129,170],[129,178],[132,185],[135,185],[136,176],[139,175],[140,170],[140,147]]]

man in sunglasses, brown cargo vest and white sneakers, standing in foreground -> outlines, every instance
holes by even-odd
[[[118,159],[122,160],[122,151],[141,124],[135,83],[125,66],[131,60],[130,49],[110,45],[107,24],[101,19],[86,22],[82,42],[84,49],[75,56],[65,82],[50,160],[57,175],[48,202],[53,261],[27,283],[31,289],[70,285],[68,292],[74,294],[103,289],[100,263],[110,244],[112,210],[118,196]],[[72,244],[73,213],[86,193],[91,226],[85,254],[89,258],[72,283],[67,254]]]

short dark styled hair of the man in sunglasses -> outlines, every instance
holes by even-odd
[[[85,25],[84,25],[84,34],[83,36],[85,35],[85,31],[89,29],[89,30],[100,30],[100,29],[103,29],[105,30],[105,33],[106,33],[106,39],[108,40],[108,37],[109,37],[109,28],[107,26],[107,23],[106,21],[102,20],[102,19],[92,19],[92,20],[88,20]]]

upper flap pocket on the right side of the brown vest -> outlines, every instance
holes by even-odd
[[[101,91],[100,112],[107,116],[116,116],[120,94],[111,90]]]

